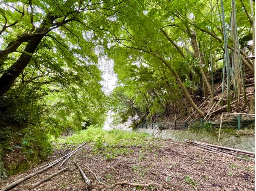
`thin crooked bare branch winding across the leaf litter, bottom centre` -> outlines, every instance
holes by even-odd
[[[85,169],[87,169],[88,171],[90,171],[90,174],[93,176],[93,179],[100,185],[103,185],[105,186],[106,188],[114,188],[118,185],[130,185],[130,186],[140,186],[140,187],[148,187],[150,185],[155,185],[155,186],[159,186],[157,183],[155,182],[149,182],[148,184],[140,184],[140,183],[131,183],[131,182],[127,182],[127,181],[122,181],[122,182],[116,182],[114,183],[113,185],[105,185],[104,183],[102,183],[97,177],[96,177],[96,174],[86,165],[85,166],[82,166],[80,164],[78,164],[77,162],[73,161],[76,165],[79,165]]]

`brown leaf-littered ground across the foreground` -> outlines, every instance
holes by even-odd
[[[72,160],[81,165],[87,164],[102,182],[111,185],[115,182],[127,180],[129,182],[157,182],[160,188],[149,186],[148,188],[135,188],[128,185],[117,186],[114,191],[135,191],[135,190],[165,190],[165,191],[247,191],[255,190],[255,165],[254,162],[247,162],[233,157],[207,153],[201,150],[194,150],[180,145],[158,140],[157,146],[131,147],[126,156],[117,156],[116,159],[108,161],[102,153],[94,153],[92,148],[84,145],[80,148],[63,167],[70,166],[73,171],[64,172],[53,177],[32,189],[33,191],[104,191],[108,190],[102,185],[96,184],[90,173],[86,171],[87,177],[93,184],[89,188],[81,179],[78,169]],[[46,164],[71,149],[54,150]],[[43,165],[41,164],[41,165]],[[59,164],[50,168],[42,174],[23,182],[13,191],[24,191],[26,183],[36,182],[39,179],[59,170]],[[21,174],[29,174],[32,170]],[[9,177],[0,182],[0,188],[6,183],[17,179],[21,174]]]

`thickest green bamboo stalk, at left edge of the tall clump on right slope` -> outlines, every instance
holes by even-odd
[[[226,58],[226,69],[227,69],[227,112],[230,112],[230,60],[229,53],[227,49],[227,32],[226,32],[226,22],[224,14],[224,5],[223,0],[221,0],[221,15],[222,15],[222,28],[223,28],[223,37],[224,37],[224,49],[225,49],[225,58]]]

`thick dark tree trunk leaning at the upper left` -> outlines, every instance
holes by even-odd
[[[41,26],[35,30],[35,33],[47,31],[49,27],[52,26],[55,18],[55,16],[48,14]],[[12,66],[9,67],[9,69],[7,69],[6,72],[4,72],[0,77],[0,96],[3,96],[3,94],[5,94],[13,86],[17,77],[21,74],[23,69],[26,68],[26,66],[29,64],[29,61],[31,60],[31,56],[28,54],[35,53],[35,50],[37,49],[38,44],[41,42],[43,37],[44,35],[37,36],[29,40],[24,49],[24,52],[28,53],[22,53],[17,61],[12,64]]]

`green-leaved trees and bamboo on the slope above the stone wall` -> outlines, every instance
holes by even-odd
[[[116,20],[116,29],[108,29],[119,79],[114,95],[129,101],[117,104],[116,117],[152,121],[159,112],[167,117],[194,111],[204,117],[195,99],[200,90],[201,97],[212,99],[213,110],[223,100],[227,112],[237,99],[246,106],[244,75],[253,74],[255,59],[253,10],[254,2],[243,0],[147,1],[120,15],[125,24]],[[222,75],[220,98],[215,98],[214,75]]]

